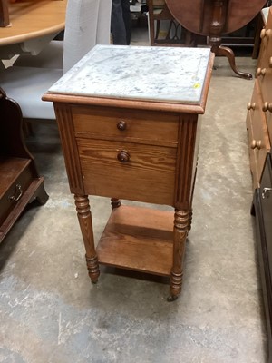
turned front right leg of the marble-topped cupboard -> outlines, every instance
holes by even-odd
[[[175,210],[173,266],[170,275],[170,297],[168,298],[168,301],[173,301],[180,295],[188,227],[189,211]]]

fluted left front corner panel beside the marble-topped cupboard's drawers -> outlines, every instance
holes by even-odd
[[[69,105],[54,103],[54,111],[60,132],[70,191],[84,195],[82,170],[73,131],[73,118]]]

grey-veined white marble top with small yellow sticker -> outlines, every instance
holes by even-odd
[[[95,45],[49,93],[199,103],[209,48]]]

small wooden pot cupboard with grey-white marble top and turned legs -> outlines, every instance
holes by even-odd
[[[169,300],[180,294],[212,64],[207,48],[96,45],[44,95],[54,104],[92,282],[104,264],[170,277]],[[96,248],[88,195],[112,201]]]

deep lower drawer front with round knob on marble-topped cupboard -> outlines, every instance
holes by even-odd
[[[78,139],[86,194],[172,205],[176,147]]]

